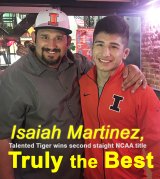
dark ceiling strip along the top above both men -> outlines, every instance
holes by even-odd
[[[123,2],[122,2],[123,1]],[[68,15],[136,14],[159,0],[0,0],[0,6],[60,7]],[[7,7],[6,11],[7,11]]]

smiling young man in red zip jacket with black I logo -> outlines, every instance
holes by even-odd
[[[146,158],[153,166],[152,178],[160,178],[160,102],[149,86],[133,95],[130,89],[119,90],[123,60],[130,51],[128,38],[129,27],[119,16],[101,19],[94,30],[95,66],[80,79],[84,126],[95,132],[85,140],[92,144],[85,149],[85,157],[98,163],[85,170],[86,179],[146,178],[143,148],[146,155],[153,155],[153,160]],[[97,129],[101,130],[96,133]],[[135,137],[133,131],[138,131]]]

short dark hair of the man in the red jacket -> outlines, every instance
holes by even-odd
[[[93,40],[100,32],[107,34],[118,34],[124,39],[124,45],[128,45],[129,40],[129,25],[120,16],[111,15],[100,19],[93,32]]]

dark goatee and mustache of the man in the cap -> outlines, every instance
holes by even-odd
[[[46,59],[45,57],[44,57],[44,55],[43,55],[43,52],[44,51],[46,51],[46,52],[58,52],[58,53],[60,53],[61,52],[61,50],[60,49],[57,49],[57,48],[55,48],[55,49],[49,49],[49,48],[42,48],[42,60],[47,64],[47,65],[49,65],[49,66],[54,66],[54,65],[57,65],[57,64],[59,64],[60,63],[60,61],[61,61],[61,59],[62,59],[62,57],[61,56],[59,56],[57,59]]]

